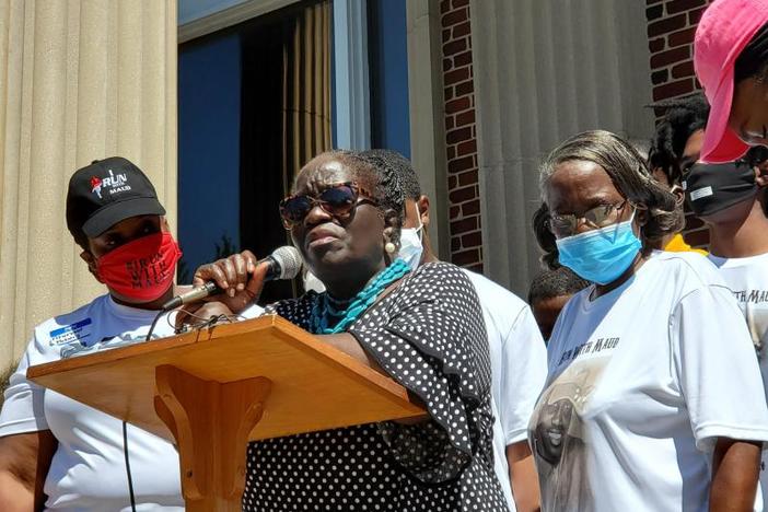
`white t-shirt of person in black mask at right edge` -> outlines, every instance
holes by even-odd
[[[720,276],[733,292],[747,322],[747,328],[757,352],[764,389],[768,389],[768,254],[748,258],[720,258],[709,255],[709,260],[720,268]],[[768,494],[768,452],[763,452],[760,487]],[[768,500],[764,500],[768,512]]]

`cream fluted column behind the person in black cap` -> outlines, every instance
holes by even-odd
[[[71,174],[123,155],[176,219],[176,1],[0,2],[0,369],[103,293],[65,222]]]

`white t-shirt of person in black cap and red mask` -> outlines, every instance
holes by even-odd
[[[45,481],[50,510],[129,512],[123,422],[26,380],[34,364],[141,342],[158,312],[117,304],[107,295],[35,327],[5,391],[0,437],[50,430],[58,440]],[[152,338],[173,335],[165,318]],[[183,511],[178,454],[173,445],[128,424],[137,510]]]

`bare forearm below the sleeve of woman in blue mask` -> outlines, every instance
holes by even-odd
[[[763,443],[719,438],[712,456],[710,512],[750,512],[760,475]]]

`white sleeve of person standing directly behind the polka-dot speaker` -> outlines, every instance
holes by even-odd
[[[507,334],[501,356],[499,419],[509,446],[527,439],[528,421],[547,380],[547,348],[528,306]]]

